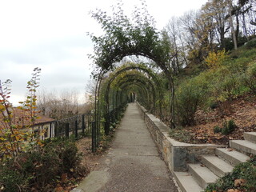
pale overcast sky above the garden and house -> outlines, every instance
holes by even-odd
[[[123,0],[127,14],[139,0]],[[162,30],[173,16],[198,10],[206,0],[146,0],[150,15]],[[93,44],[86,32],[101,29],[90,17],[100,8],[111,14],[116,0],[0,1],[0,80],[11,79],[10,102],[24,100],[26,82],[35,67],[42,69],[40,90],[76,90],[80,95],[92,68],[87,54]]]

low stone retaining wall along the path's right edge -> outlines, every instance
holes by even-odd
[[[158,150],[161,152],[170,171],[186,171],[187,163],[200,162],[202,154],[215,154],[215,148],[226,147],[211,144],[188,144],[177,142],[169,137],[170,128],[153,114],[147,113],[144,107],[138,104]]]

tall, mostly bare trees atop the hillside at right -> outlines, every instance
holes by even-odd
[[[171,18],[166,26],[174,74],[210,51],[232,50],[256,37],[256,1],[208,0],[200,10]]]

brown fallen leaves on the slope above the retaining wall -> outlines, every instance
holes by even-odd
[[[182,129],[186,133],[186,137],[175,137],[174,133],[172,134],[172,138],[179,142],[212,143],[218,145],[227,145],[229,140],[233,139],[243,139],[244,132],[256,131],[255,103],[254,96],[245,95],[230,101],[229,105],[232,110],[224,116],[219,114],[218,108],[209,111],[198,110],[195,114],[196,126],[186,126]],[[219,103],[219,107],[221,108],[225,105],[225,102]],[[221,133],[214,134],[214,126],[222,127],[223,119],[234,119],[238,128],[229,135],[223,135]],[[180,135],[181,133],[178,134]]]

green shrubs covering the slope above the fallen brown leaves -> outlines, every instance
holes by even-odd
[[[237,58],[232,58],[234,55]],[[238,95],[246,94],[249,89],[256,93],[255,55],[255,49],[235,50],[230,54],[230,58],[227,59],[225,56],[225,59],[219,60],[218,66],[197,76],[185,77],[186,80],[178,83],[176,114],[180,125],[194,124],[194,113],[198,106],[202,109],[206,109],[207,106],[214,109],[218,107],[218,102],[232,100]],[[226,133],[226,130],[224,132]]]

